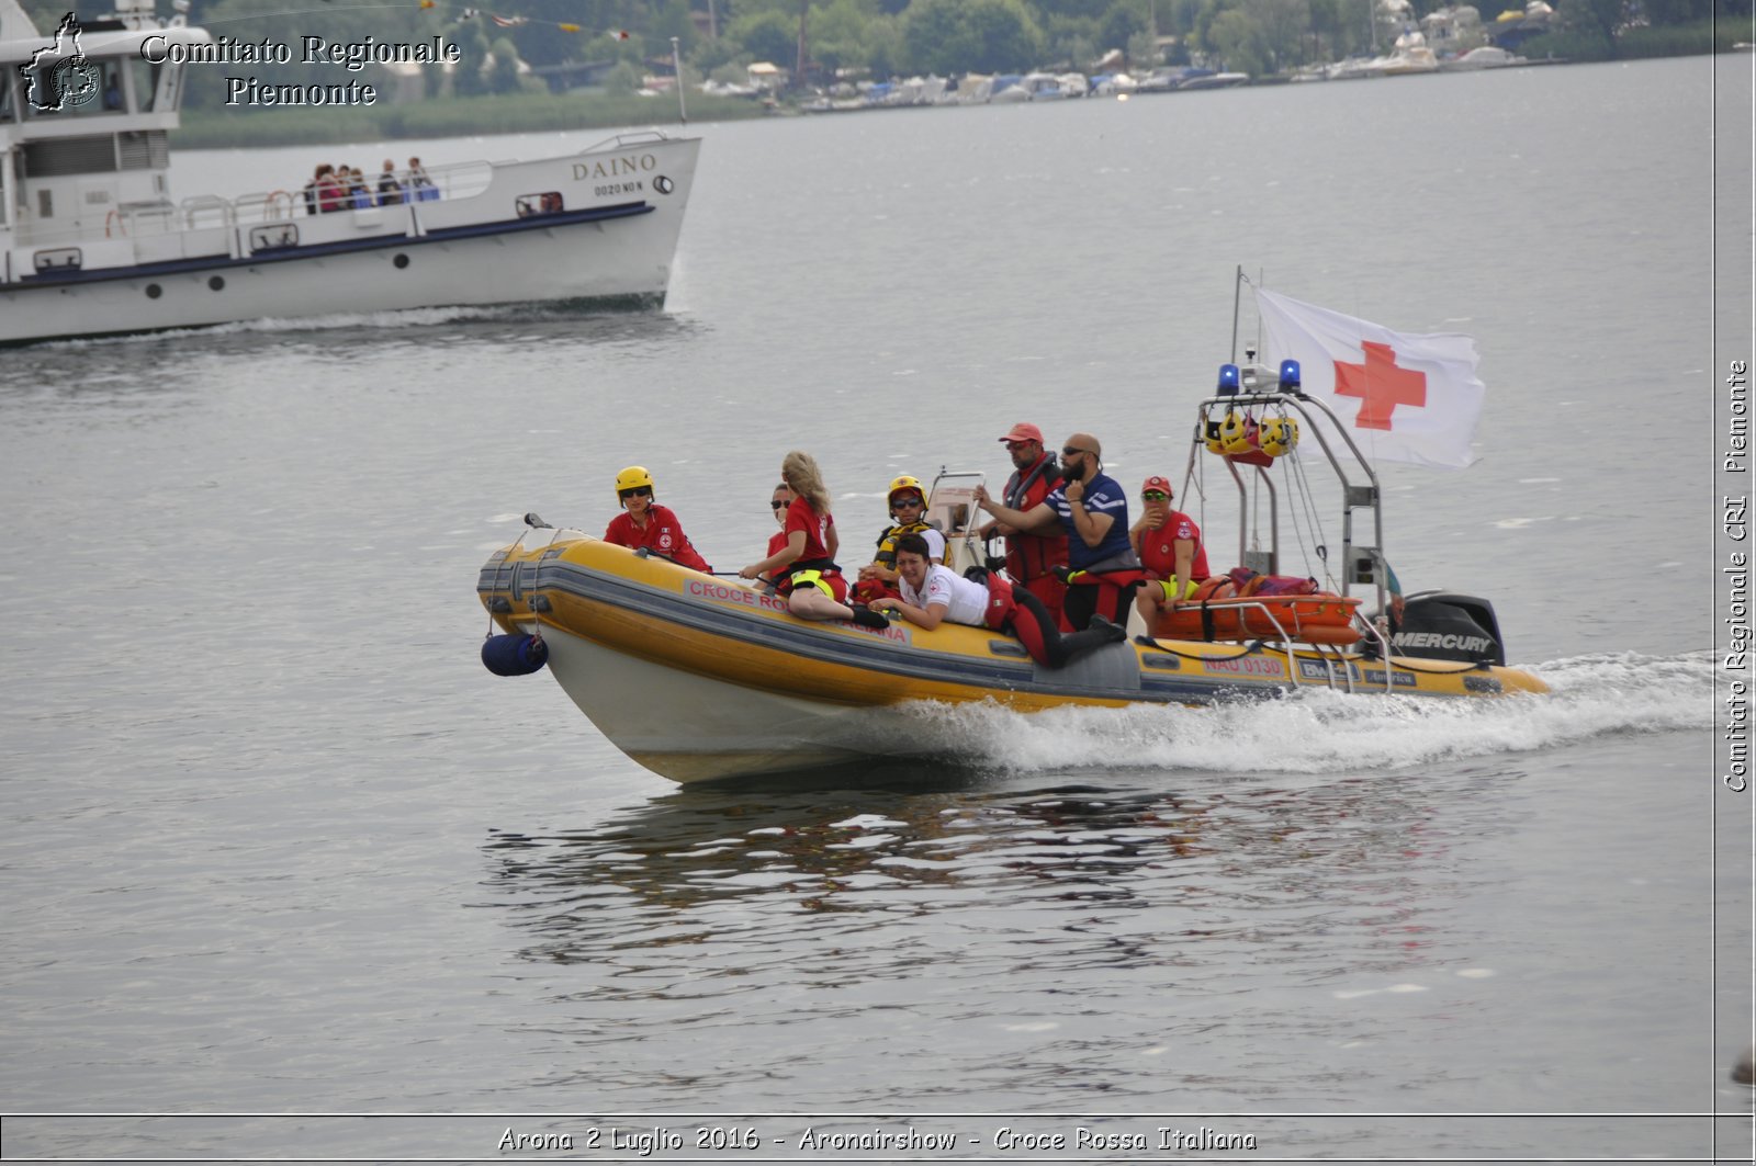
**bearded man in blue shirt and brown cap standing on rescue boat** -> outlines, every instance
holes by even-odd
[[[1062,630],[1083,630],[1092,615],[1126,625],[1134,588],[1147,578],[1127,541],[1127,493],[1103,472],[1103,448],[1090,434],[1073,434],[1061,450],[1062,483],[1029,511],[1001,506],[976,486],[976,506],[1018,530],[1052,529],[1068,536],[1068,594]]]

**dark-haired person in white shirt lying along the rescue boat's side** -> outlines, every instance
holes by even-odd
[[[880,599],[873,608],[896,609],[915,627],[932,630],[941,622],[989,627],[1017,636],[1031,659],[1045,667],[1062,667],[1092,648],[1120,643],[1127,632],[1092,618],[1083,632],[1061,634],[1048,608],[1024,587],[1013,587],[996,572],[983,571],[980,583],[964,579],[943,564],[929,562],[927,541],[904,534],[896,541],[896,569],[901,599]]]

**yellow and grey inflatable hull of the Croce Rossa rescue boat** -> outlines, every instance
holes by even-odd
[[[478,595],[504,630],[544,637],[550,671],[611,743],[676,781],[955,752],[911,716],[920,701],[1036,713],[1312,685],[1452,697],[1544,690],[1517,669],[1405,659],[1385,669],[1261,643],[1134,641],[1048,669],[987,629],[799,620],[739,581],[590,537],[497,551]]]

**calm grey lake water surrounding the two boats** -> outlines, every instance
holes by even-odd
[[[7,353],[5,1155],[1745,1159],[1749,112],[1740,56],[702,126],[664,313]],[[483,558],[632,462],[722,569],[795,446],[873,532],[1015,420],[1180,476],[1238,263],[1477,337],[1480,462],[1380,467],[1385,550],[1552,699],[925,711],[966,769],[680,790],[481,669]]]

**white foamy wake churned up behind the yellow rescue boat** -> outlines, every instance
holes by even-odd
[[[1340,773],[1545,750],[1607,734],[1710,729],[1714,655],[1637,653],[1552,660],[1544,697],[1431,701],[1306,688],[1282,701],[1164,709],[917,704],[911,718],[945,753],[1008,773],[1189,769]]]

